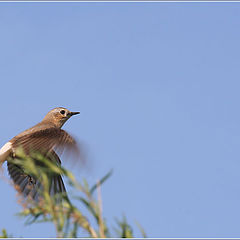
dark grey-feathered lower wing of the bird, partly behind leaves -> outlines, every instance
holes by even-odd
[[[14,158],[17,157],[13,157]],[[58,155],[51,151],[51,159],[60,164],[60,159]],[[20,166],[17,166],[13,161],[7,163],[8,172],[13,180],[16,190],[21,193],[24,197],[31,197],[34,200],[38,200],[41,194],[41,189],[43,186],[38,179],[35,179],[33,176],[30,176],[24,172],[24,169]],[[66,196],[66,189],[60,174],[49,175],[49,193],[55,195],[56,193],[62,193]]]

